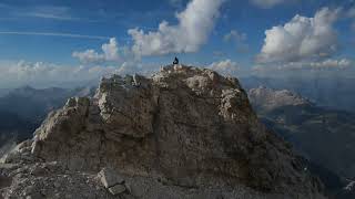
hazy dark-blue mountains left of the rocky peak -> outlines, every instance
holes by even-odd
[[[32,136],[49,112],[64,105],[71,96],[90,96],[92,87],[36,90],[24,86],[0,97],[0,147],[9,139],[23,140]]]

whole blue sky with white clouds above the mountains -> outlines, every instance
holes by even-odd
[[[0,0],[0,88],[150,74],[355,77],[353,0]]]

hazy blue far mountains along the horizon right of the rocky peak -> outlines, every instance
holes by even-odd
[[[247,90],[260,86],[273,90],[288,90],[301,94],[303,97],[307,97],[318,106],[355,113],[355,78],[275,78],[248,76],[242,77],[241,82]]]

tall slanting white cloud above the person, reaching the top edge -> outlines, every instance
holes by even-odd
[[[156,31],[130,29],[132,51],[138,55],[163,55],[196,52],[211,33],[224,0],[192,0],[186,9],[176,13],[179,23],[160,23]]]

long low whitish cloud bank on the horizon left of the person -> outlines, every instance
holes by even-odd
[[[135,61],[121,65],[58,65],[43,62],[0,61],[0,90],[24,85],[33,87],[77,87],[97,86],[102,76],[112,74],[142,74],[150,76],[158,72],[159,64]]]

